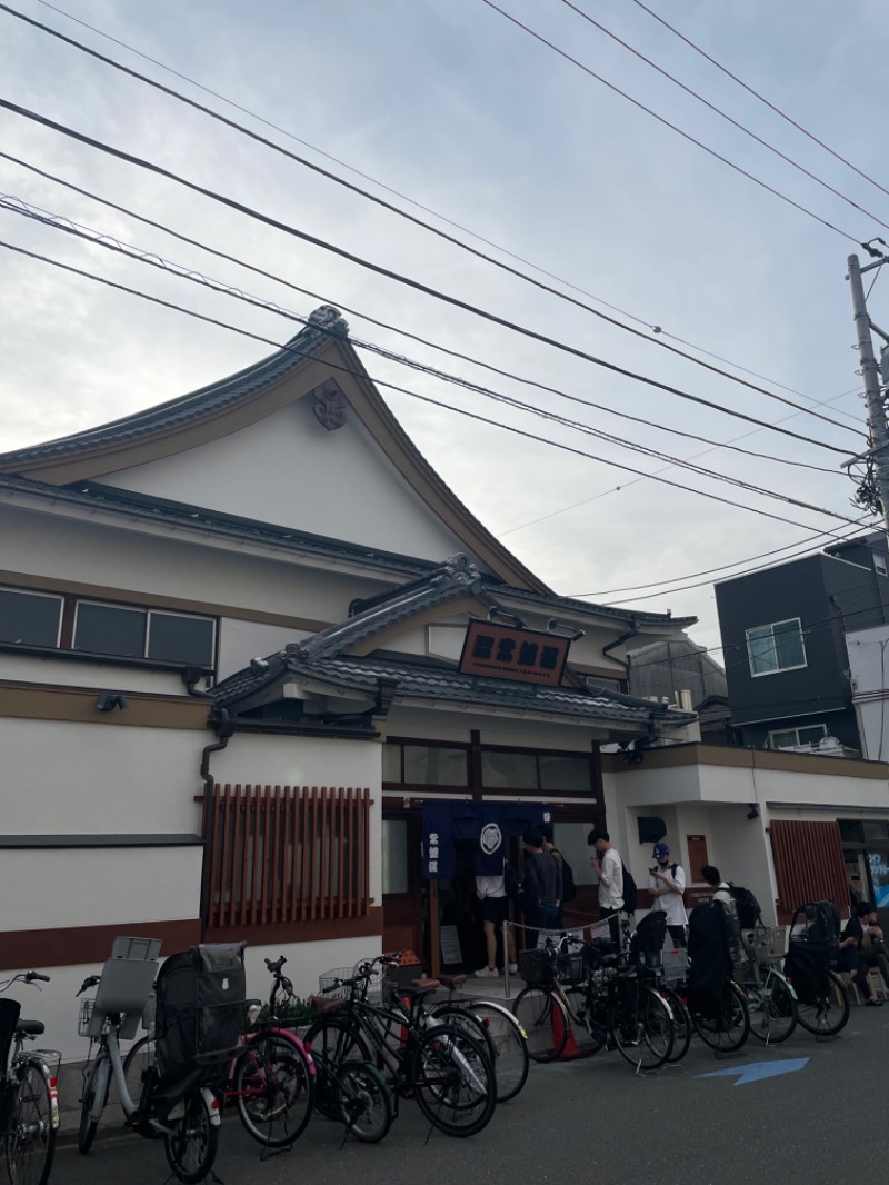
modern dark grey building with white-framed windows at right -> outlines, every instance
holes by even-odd
[[[861,754],[845,635],[889,621],[888,565],[875,532],[716,584],[731,725],[744,745]]]

